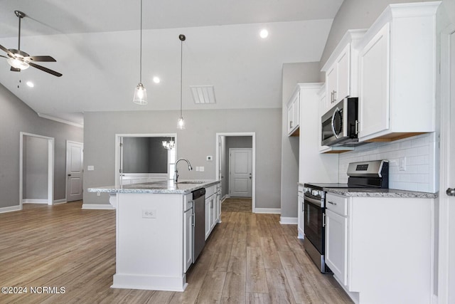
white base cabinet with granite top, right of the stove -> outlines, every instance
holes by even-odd
[[[326,265],[354,303],[431,303],[435,195],[330,191]]]

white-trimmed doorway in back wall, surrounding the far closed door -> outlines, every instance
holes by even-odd
[[[221,180],[223,200],[230,196],[229,184],[229,149],[250,149],[251,150],[251,209],[256,212],[256,133],[255,132],[225,132],[216,134],[216,159],[215,177]],[[248,173],[250,173],[248,172]]]

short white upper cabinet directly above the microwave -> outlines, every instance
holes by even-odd
[[[324,113],[347,96],[357,97],[357,46],[365,32],[366,30],[347,31],[323,66],[322,71],[326,72],[327,98],[326,108],[323,109]]]

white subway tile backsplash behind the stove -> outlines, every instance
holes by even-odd
[[[350,162],[387,159],[390,189],[436,193],[438,146],[436,133],[432,132],[394,142],[371,142],[355,147],[355,150],[339,156],[339,182],[348,182],[346,171]],[[400,168],[400,160],[405,162],[405,168]]]

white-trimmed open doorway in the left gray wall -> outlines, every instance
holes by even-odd
[[[53,204],[54,138],[19,134],[19,206]]]

